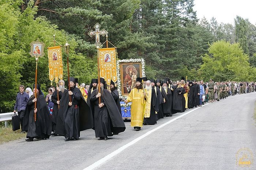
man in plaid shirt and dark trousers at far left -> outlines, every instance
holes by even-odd
[[[18,115],[20,118],[20,125],[21,125],[21,129],[22,129],[22,122],[23,122],[23,118],[20,117],[20,114],[24,115],[25,114],[25,110],[26,110],[26,106],[27,106],[27,101],[29,101],[29,95],[24,92],[25,87],[23,85],[19,86],[19,93],[17,94],[16,97],[16,103],[14,106],[14,113],[16,111],[18,111]],[[23,131],[22,131],[23,133]]]

